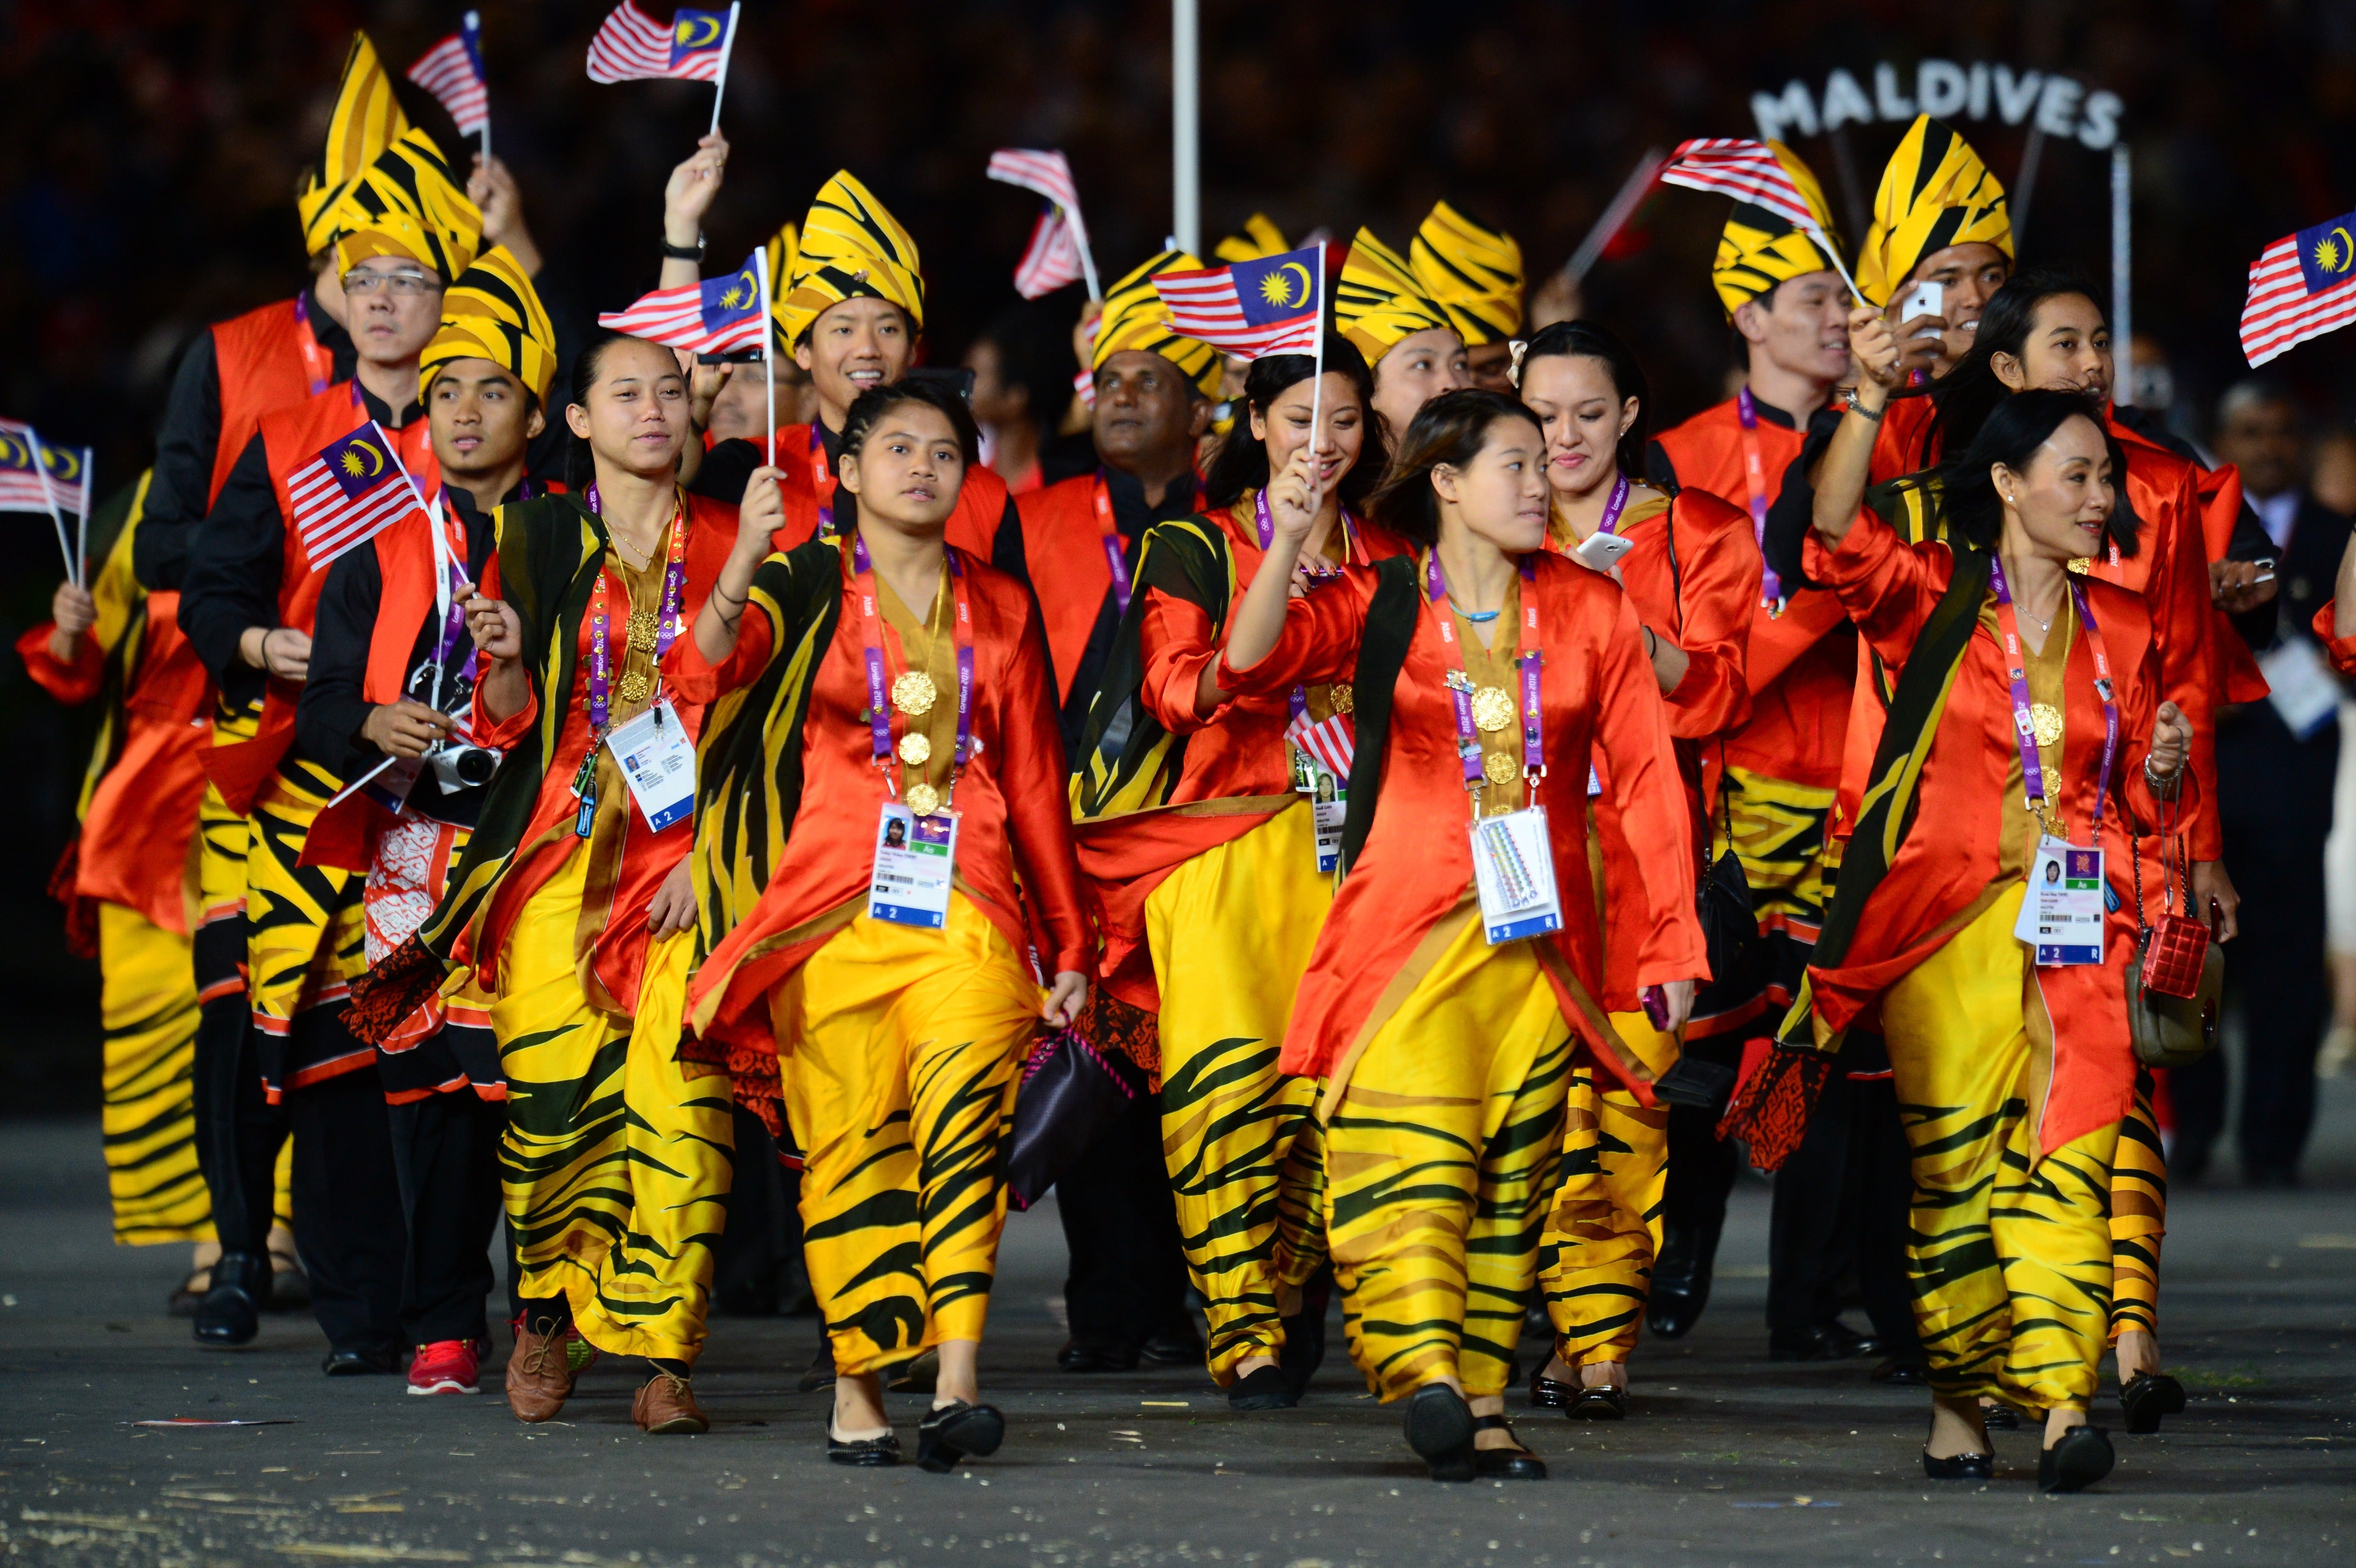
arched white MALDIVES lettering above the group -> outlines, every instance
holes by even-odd
[[[2118,115],[2125,106],[2116,92],[2087,92],[2085,82],[2045,71],[2014,71],[1974,61],[1927,59],[1913,75],[1899,66],[1873,68],[1873,92],[1847,71],[1824,78],[1824,92],[1809,92],[1793,80],[1783,92],[1753,92],[1751,115],[1765,141],[1791,141],[1835,132],[1852,120],[1911,122],[1918,113],[1939,120],[2029,122],[2047,137],[2076,137],[2090,148],[2118,141]]]

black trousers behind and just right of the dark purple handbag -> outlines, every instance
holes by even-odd
[[[1185,1311],[1185,1253],[1154,1095],[1138,1095],[1098,1128],[1055,1182],[1055,1212],[1072,1250],[1063,1302],[1074,1340],[1143,1344]]]

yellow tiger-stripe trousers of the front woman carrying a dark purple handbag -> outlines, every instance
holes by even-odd
[[[980,1340],[1006,1229],[1001,1144],[1039,1022],[1030,963],[952,892],[942,930],[853,918],[770,991],[770,1019],[836,1370]]]

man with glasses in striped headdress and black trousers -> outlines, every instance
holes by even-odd
[[[245,1245],[257,1234],[252,1194],[269,1168],[262,1151],[292,1132],[297,1245],[330,1375],[398,1370],[403,1222],[375,1050],[342,1017],[346,984],[365,963],[360,883],[302,864],[318,810],[342,789],[344,758],[294,744],[325,572],[292,527],[290,483],[358,428],[368,461],[398,464],[426,494],[436,490],[417,358],[441,325],[443,290],[478,245],[481,212],[424,132],[403,132],[360,170],[335,207],[353,377],[257,421],[196,532],[181,596],[181,624],[224,706],[259,704],[245,735],[217,727],[205,756],[226,812],[250,822],[243,958],[252,1026],[226,1076],[236,1095],[221,1118],[229,1149],[207,1170],[221,1264],[198,1337],[252,1340],[252,1271],[266,1267]]]

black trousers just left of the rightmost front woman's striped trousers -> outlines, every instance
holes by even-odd
[[[1842,1281],[1892,1356],[1918,1356],[1906,1283],[1906,1229],[1913,1161],[1875,1036],[1852,1038],[1816,1097],[1807,1135],[1774,1172],[1767,1220],[1767,1330],[1814,1328],[1840,1314]]]

